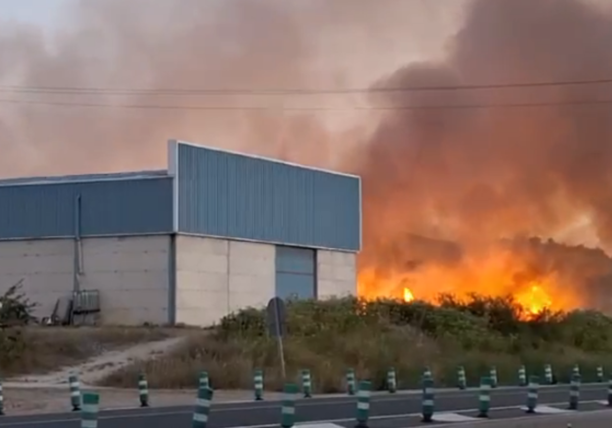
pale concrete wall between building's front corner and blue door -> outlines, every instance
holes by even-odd
[[[211,325],[274,296],[274,245],[176,237],[176,322]]]

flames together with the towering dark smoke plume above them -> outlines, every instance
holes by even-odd
[[[430,108],[387,113],[362,157],[360,295],[612,309],[612,260],[571,246],[612,248],[612,108],[601,102],[612,83],[494,86],[610,78],[612,19],[600,6],[475,0],[444,60],[374,86],[378,102]],[[493,86],[457,89],[478,84]]]

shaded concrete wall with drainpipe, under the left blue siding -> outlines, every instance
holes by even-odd
[[[83,239],[83,289],[100,290],[102,322],[140,324],[168,321],[167,235]],[[23,279],[23,292],[48,316],[73,287],[72,240],[0,242],[0,292]]]

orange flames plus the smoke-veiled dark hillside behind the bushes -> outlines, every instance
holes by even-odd
[[[425,240],[429,241],[427,250],[419,254],[419,243],[424,240],[406,240],[411,251],[400,254],[413,258],[403,264],[393,264],[394,257],[389,257],[387,264],[362,266],[359,295],[430,303],[439,303],[447,295],[507,297],[528,316],[543,311],[609,309],[605,297],[612,284],[612,260],[600,249],[532,238],[498,243],[484,254],[459,254],[444,261],[435,257],[433,240]]]

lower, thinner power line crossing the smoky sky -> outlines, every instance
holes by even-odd
[[[147,110],[200,110],[200,111],[427,111],[427,110],[471,110],[471,109],[504,109],[504,108],[547,108],[572,106],[612,105],[612,100],[573,100],[550,101],[540,103],[507,103],[507,104],[458,104],[458,105],[421,105],[421,106],[353,106],[335,107],[283,107],[283,106],[179,106],[149,104],[106,104],[106,103],[70,103],[61,101],[11,100],[0,98],[0,103],[14,105],[44,105],[76,108],[119,108]]]

